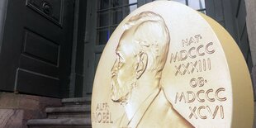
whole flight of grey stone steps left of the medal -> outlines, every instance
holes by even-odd
[[[46,107],[46,119],[27,121],[29,128],[89,128],[91,97],[64,98],[62,107]]]

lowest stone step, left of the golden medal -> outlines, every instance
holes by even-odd
[[[91,127],[90,118],[63,118],[63,119],[33,119],[27,121],[29,128],[82,128]]]

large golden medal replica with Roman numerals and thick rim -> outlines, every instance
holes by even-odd
[[[130,13],[108,40],[91,111],[93,128],[251,128],[253,89],[222,26],[157,1]]]

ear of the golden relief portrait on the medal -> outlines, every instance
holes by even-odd
[[[145,53],[140,54],[140,60],[136,68],[136,78],[139,79],[141,75],[145,72],[148,64],[148,55]]]

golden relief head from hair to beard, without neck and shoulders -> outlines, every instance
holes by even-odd
[[[127,103],[141,76],[160,78],[169,37],[163,19],[153,12],[131,17],[123,28],[126,31],[116,46],[116,62],[111,69],[111,100]]]

